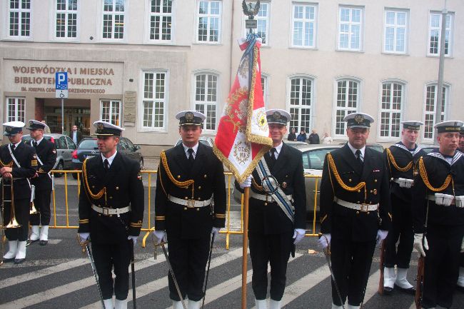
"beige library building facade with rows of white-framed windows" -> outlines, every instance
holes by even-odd
[[[400,138],[400,121],[421,120],[420,143],[433,143],[443,5],[261,1],[266,106],[337,141],[353,111],[375,117],[369,141],[385,144]],[[463,120],[464,3],[446,9],[442,118]],[[102,118],[146,156],[176,143],[184,109],[205,113],[203,135],[215,135],[246,35],[239,0],[1,0],[0,16],[3,121],[44,119],[61,132],[55,73],[66,71],[65,131],[92,133]]]

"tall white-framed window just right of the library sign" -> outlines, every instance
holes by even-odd
[[[166,72],[143,72],[143,128],[164,128],[167,93]]]

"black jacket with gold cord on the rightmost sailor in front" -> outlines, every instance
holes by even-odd
[[[423,156],[425,173],[418,173],[413,186],[413,229],[414,233],[424,233],[425,215],[428,205],[428,225],[443,226],[462,226],[464,225],[464,208],[455,205],[440,206],[434,201],[428,201],[428,195],[435,193],[445,193],[451,196],[464,196],[464,154],[456,151],[453,163],[448,163],[445,157],[438,151],[432,151],[427,156]],[[450,175],[453,181],[441,191],[432,191],[425,183],[429,183],[432,188],[438,189],[445,183],[445,179]],[[425,181],[425,179],[428,181]],[[454,187],[454,193],[453,193]]]

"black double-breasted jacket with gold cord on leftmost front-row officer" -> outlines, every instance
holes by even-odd
[[[84,171],[84,166],[83,166]],[[85,177],[86,176],[86,177]],[[93,198],[106,188],[106,194]],[[104,216],[91,208],[124,208],[131,211],[119,217]],[[109,171],[105,172],[101,156],[86,160],[86,173],[81,180],[79,196],[79,233],[89,233],[94,243],[120,243],[127,235],[140,234],[143,221],[143,183],[140,165],[116,153]]]

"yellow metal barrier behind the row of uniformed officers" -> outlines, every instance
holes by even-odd
[[[61,173],[64,177],[64,206],[65,206],[65,216],[66,216],[66,225],[61,225],[59,226],[57,224],[57,215],[56,215],[56,188],[52,191],[52,202],[53,202],[53,222],[54,225],[50,226],[50,228],[79,228],[79,226],[75,225],[70,225],[69,224],[69,201],[68,201],[68,190],[69,190],[69,185],[68,185],[68,178],[69,174],[71,173],[76,173],[77,174],[77,196],[78,196],[78,204],[79,204],[79,193],[81,191],[81,173],[82,171],[51,171],[52,174],[56,173]],[[146,245],[146,238],[148,238],[148,235],[152,231],[155,230],[154,225],[151,225],[151,190],[152,190],[152,174],[156,174],[156,171],[141,171],[141,173],[148,174],[148,201],[147,201],[147,213],[148,213],[148,218],[144,220],[146,225],[144,224],[145,227],[141,228],[141,231],[146,232],[145,235],[143,235],[142,239],[142,247],[145,247]],[[232,193],[233,193],[233,182],[232,182],[232,173],[231,172],[225,172],[224,175],[227,177],[227,200],[226,200],[226,211],[227,211],[227,221],[226,221],[226,228],[223,229],[223,231],[219,232],[221,234],[226,234],[226,249],[229,248],[229,240],[230,240],[230,235],[241,235],[243,234],[243,194],[241,195],[241,207],[240,207],[240,228],[237,229],[231,229],[231,199],[232,199]],[[55,177],[56,178],[56,177]],[[313,207],[313,221],[312,221],[312,232],[313,233],[306,233],[306,236],[317,236],[318,233],[316,233],[316,211],[318,208],[318,183],[319,183],[319,178],[320,176],[313,176],[313,175],[305,175],[305,178],[316,178],[315,179],[315,186],[314,186],[314,207]],[[56,187],[56,184],[55,184]],[[78,219],[76,219],[75,223],[79,221],[79,211],[76,207],[74,211],[77,212]],[[71,223],[72,224],[72,223]]]

